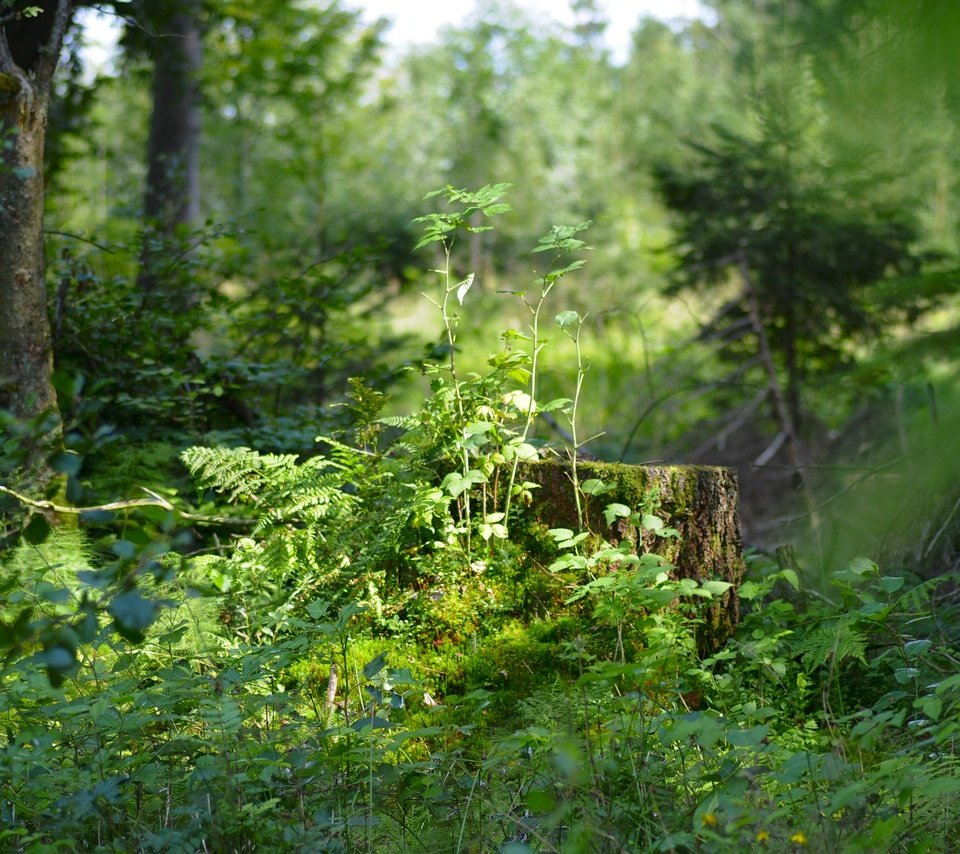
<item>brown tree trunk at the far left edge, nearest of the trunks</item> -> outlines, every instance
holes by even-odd
[[[70,12],[67,0],[48,2],[27,28],[28,19],[0,7],[0,408],[23,421],[49,415],[27,461],[41,485],[62,441],[44,282],[43,147]]]

